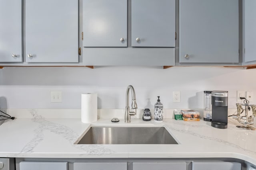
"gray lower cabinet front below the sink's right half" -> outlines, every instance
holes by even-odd
[[[133,170],[186,170],[186,162],[133,162]]]

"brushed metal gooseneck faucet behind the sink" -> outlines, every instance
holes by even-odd
[[[135,111],[130,111],[129,107],[129,92],[132,91],[132,109],[135,109]],[[135,97],[135,91],[132,85],[129,85],[126,89],[126,107],[125,107],[125,115],[124,115],[124,122],[130,123],[131,122],[131,116],[136,115],[136,97]]]

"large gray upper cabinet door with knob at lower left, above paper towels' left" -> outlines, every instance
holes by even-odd
[[[78,0],[26,0],[26,62],[78,62]]]

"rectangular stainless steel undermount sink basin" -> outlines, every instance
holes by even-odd
[[[77,144],[178,144],[164,127],[90,127]]]

